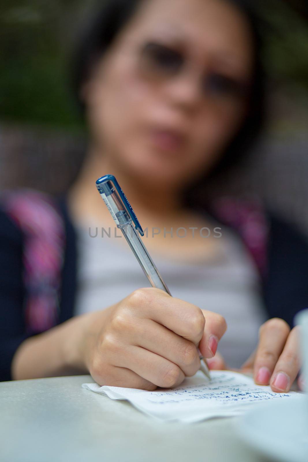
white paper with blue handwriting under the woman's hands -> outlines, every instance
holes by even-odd
[[[155,391],[100,387],[97,383],[82,386],[114,400],[130,401],[140,411],[157,419],[182,422],[238,415],[260,401],[301,396],[294,391],[275,393],[271,387],[256,385],[252,378],[232,371],[211,371],[211,381],[198,371],[193,377],[186,377],[179,387]]]

